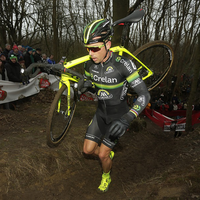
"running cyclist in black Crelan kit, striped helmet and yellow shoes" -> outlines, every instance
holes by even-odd
[[[107,19],[89,23],[83,32],[84,45],[91,60],[85,63],[87,81],[95,85],[98,108],[88,126],[83,152],[97,155],[103,174],[98,190],[106,192],[111,183],[110,171],[114,157],[113,147],[130,123],[142,112],[150,100],[148,89],[139,76],[135,64],[109,49],[113,28]],[[138,95],[130,109],[126,93],[128,86]]]

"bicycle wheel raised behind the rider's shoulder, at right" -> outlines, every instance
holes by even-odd
[[[174,51],[171,45],[164,41],[152,41],[140,48],[134,53],[145,66],[153,72],[153,75],[144,80],[148,90],[158,86],[168,74],[174,60]],[[139,74],[143,78],[147,76],[148,70],[141,66],[141,63],[134,60]]]

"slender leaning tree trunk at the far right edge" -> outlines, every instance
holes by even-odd
[[[200,33],[198,34],[198,55],[200,54]],[[194,76],[191,86],[191,92],[188,100],[187,112],[186,112],[186,131],[189,132],[192,130],[192,105],[194,105],[195,95],[197,91],[197,83],[199,78],[199,68],[200,68],[200,59],[198,58],[196,65],[194,66]]]

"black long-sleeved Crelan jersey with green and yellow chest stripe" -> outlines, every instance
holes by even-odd
[[[126,103],[128,85],[138,95],[133,108],[129,110],[132,114],[137,117],[149,102],[150,95],[146,85],[135,64],[126,57],[110,52],[109,59],[104,63],[88,61],[85,63],[85,75],[95,84],[100,106],[116,107]]]

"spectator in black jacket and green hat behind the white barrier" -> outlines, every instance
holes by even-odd
[[[10,56],[10,60],[5,64],[8,80],[13,82],[22,82],[21,66],[17,62],[15,55]]]

